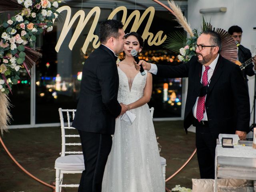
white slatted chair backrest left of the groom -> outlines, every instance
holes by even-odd
[[[61,128],[61,152],[60,156],[66,154],[82,154],[80,136],[76,128],[72,127],[72,121],[75,117],[75,109],[59,108],[60,128]],[[68,141],[68,142],[67,142]],[[69,147],[68,147],[69,146]]]

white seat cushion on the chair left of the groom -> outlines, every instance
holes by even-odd
[[[67,155],[59,157],[55,161],[55,169],[77,169],[84,170],[83,155]]]

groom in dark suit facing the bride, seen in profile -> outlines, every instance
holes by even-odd
[[[126,42],[122,22],[102,22],[100,42],[100,47],[90,54],[83,66],[80,99],[72,124],[78,129],[84,155],[85,170],[78,192],[101,192],[115,119],[127,110],[117,100],[116,54],[123,51]]]

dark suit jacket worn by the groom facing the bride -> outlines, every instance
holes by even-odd
[[[72,126],[84,132],[114,134],[115,119],[121,112],[118,85],[116,56],[100,45],[83,66],[80,98]]]

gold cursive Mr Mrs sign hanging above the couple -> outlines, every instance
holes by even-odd
[[[68,45],[70,50],[72,50],[74,44],[76,43],[78,37],[80,36],[80,34],[82,32],[82,30],[84,29],[84,27],[88,23],[88,20],[90,18],[92,18],[94,13],[95,13],[94,20],[92,22],[92,26],[90,26],[90,31],[88,32],[88,36],[86,37],[86,39],[84,41],[84,45],[82,47],[82,52],[84,54],[86,53],[86,50],[87,50],[88,45],[89,45],[90,42],[92,42],[92,46],[94,48],[98,48],[98,46],[100,46],[100,42],[98,41],[99,37],[94,34],[94,31],[95,31],[96,25],[98,23],[98,20],[100,18],[100,8],[99,7],[92,8],[92,10],[90,10],[90,12],[87,14],[86,17],[85,17],[85,12],[83,10],[79,10],[78,12],[76,12],[76,14],[72,17],[71,20],[70,20],[70,18],[71,18],[71,8],[69,6],[62,6],[62,7],[58,8],[57,12],[60,13],[64,10],[66,10],[67,15],[66,15],[66,20],[64,22],[64,26],[62,28],[62,32],[61,32],[60,37],[58,39],[58,42],[55,46],[56,52],[58,52],[60,50],[60,46],[62,45],[64,39],[66,38],[66,35],[68,34],[70,28],[72,27],[72,25],[74,24],[76,19],[79,17],[78,25],[76,26],[76,30],[74,31],[74,34],[73,34],[73,36],[70,40],[70,43]],[[144,29],[144,32],[142,34],[143,40],[148,39],[148,45],[149,46],[152,46],[152,45],[157,45],[158,46],[166,40],[166,35],[164,35],[162,37],[163,31],[157,32],[155,36],[154,36],[153,33],[149,32],[150,26],[151,26],[153,18],[154,18],[154,13],[155,13],[154,7],[147,8],[144,11],[144,13],[142,14],[141,17],[140,17],[140,12],[138,10],[134,10],[130,14],[130,16],[127,18],[127,9],[126,9],[126,7],[120,6],[120,7],[116,8],[115,10],[113,10],[111,12],[108,19],[114,18],[114,16],[120,11],[123,12],[122,23],[124,23],[124,30],[126,29],[128,24],[130,24],[133,17],[135,17],[134,23],[132,24],[132,28],[131,28],[131,31],[135,31],[135,32],[138,30],[138,28],[140,27],[140,25],[142,24],[142,22],[146,18],[146,16],[149,14],[148,22],[147,22],[146,27]]]

